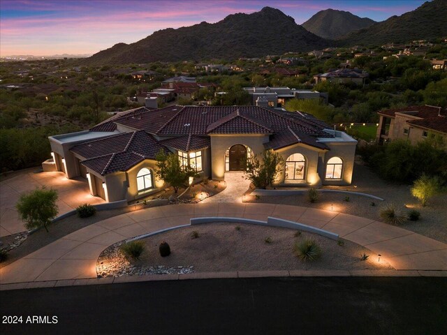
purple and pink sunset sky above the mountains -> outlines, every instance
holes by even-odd
[[[424,0],[0,0],[0,56],[94,54],[119,42],[133,43],[154,31],[214,23],[233,13],[264,6],[282,10],[301,24],[319,10],[347,10],[383,21]]]

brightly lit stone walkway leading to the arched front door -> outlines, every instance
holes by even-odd
[[[249,189],[251,181],[245,179],[244,172],[226,172],[226,188],[217,195],[203,200],[208,202],[242,202],[242,195]]]

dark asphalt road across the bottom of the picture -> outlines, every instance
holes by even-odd
[[[1,315],[56,325],[1,334],[447,334],[447,281],[301,277],[159,281],[1,292]]]

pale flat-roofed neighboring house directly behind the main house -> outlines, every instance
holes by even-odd
[[[308,89],[289,89],[288,87],[244,87],[251,96],[251,105],[261,107],[282,107],[293,98],[318,99],[328,102],[328,95]]]

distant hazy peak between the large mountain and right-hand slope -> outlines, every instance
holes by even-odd
[[[321,10],[302,24],[307,31],[317,36],[335,40],[353,31],[376,23],[367,17],[358,17],[344,10]]]

